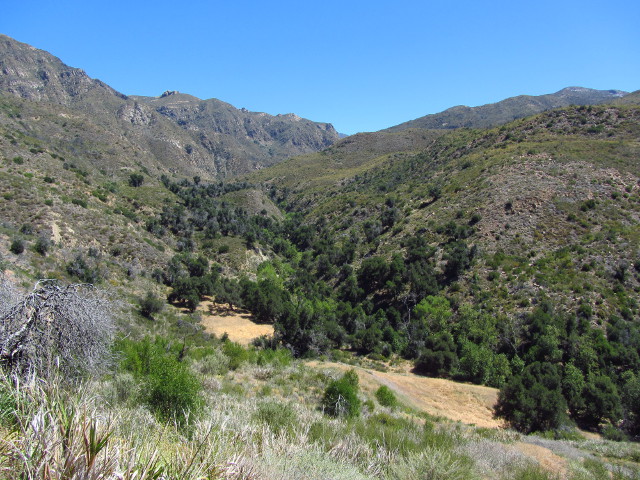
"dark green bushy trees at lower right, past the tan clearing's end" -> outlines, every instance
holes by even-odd
[[[568,413],[585,428],[620,425],[637,434],[632,372],[640,368],[640,334],[633,325],[613,318],[607,330],[594,328],[543,302],[525,332],[516,354],[524,367],[500,392],[500,416],[526,432],[558,428]]]

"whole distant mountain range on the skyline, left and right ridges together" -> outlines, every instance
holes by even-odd
[[[45,51],[0,35],[0,100],[3,98],[11,108],[18,102],[30,119],[0,121],[56,145],[60,153],[98,161],[107,174],[128,175],[128,170],[144,167],[156,178],[160,174],[229,178],[322,151],[344,137],[328,123],[295,114],[250,112],[177,91],[158,97],[127,96]],[[453,107],[341,140],[337,146],[388,151],[398,142],[423,145],[437,134],[425,129],[442,133],[460,127],[484,128],[567,105],[637,102],[637,93],[569,87],[480,107]],[[410,129],[423,133],[389,136]]]

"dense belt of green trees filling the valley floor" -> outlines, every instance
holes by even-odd
[[[569,418],[587,428],[640,430],[640,334],[628,319],[597,327],[588,308],[559,314],[544,297],[521,317],[451,304],[446,289],[477,256],[468,243],[477,219],[436,226],[437,244],[417,232],[401,251],[376,255],[374,247],[359,261],[356,250],[367,251],[398,221],[394,201],[378,218],[341,231],[299,213],[276,222],[225,203],[226,193],[246,184],[164,182],[183,203],[165,208],[150,231],[242,236],[248,247],[273,252],[255,280],[229,280],[209,259],[183,251],[163,274],[170,301],[193,310],[214,295],[244,306],[273,323],[277,340],[298,356],[335,348],[398,354],[414,359],[417,372],[501,388],[497,414],[522,431],[558,428]]]

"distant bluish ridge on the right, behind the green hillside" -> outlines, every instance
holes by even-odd
[[[518,118],[528,117],[569,105],[598,105],[611,103],[627,92],[620,90],[593,90],[582,87],[568,87],[556,93],[540,96],[520,95],[497,103],[479,107],[457,106],[444,112],[426,115],[401,123],[386,131],[397,132],[407,128],[487,128],[505,124]]]

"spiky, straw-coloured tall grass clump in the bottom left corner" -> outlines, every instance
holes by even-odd
[[[0,444],[2,478],[93,480],[115,475],[108,416],[99,415],[81,395],[61,389],[59,378],[21,384],[16,377],[2,376],[2,426],[11,432]]]

